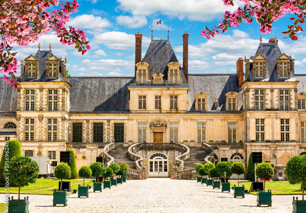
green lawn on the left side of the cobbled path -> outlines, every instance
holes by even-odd
[[[53,194],[53,189],[49,188],[54,188],[58,187],[58,182],[60,179],[37,179],[36,183],[29,184],[29,186],[22,187],[20,189],[20,193],[22,194],[44,194],[44,195],[52,195]],[[74,180],[68,180],[70,182],[70,188],[77,189],[78,184],[72,185],[74,183],[79,183],[81,186],[83,186],[83,179],[74,179]],[[88,181],[85,179],[85,181]],[[85,182],[86,185],[93,186],[93,182]],[[39,189],[49,189],[49,190],[39,190]],[[57,188],[58,189],[58,188]],[[4,190],[4,187],[0,187],[0,193],[6,193]],[[9,187],[9,193],[10,194],[18,194],[18,187]]]

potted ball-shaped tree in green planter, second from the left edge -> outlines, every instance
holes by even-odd
[[[65,163],[59,163],[54,168],[54,176],[57,179],[61,179],[60,189],[59,191],[56,191],[56,189],[53,190],[53,206],[56,204],[63,204],[64,206],[67,206],[67,195],[68,192],[65,189],[65,191],[62,191],[62,183],[63,179],[69,179],[71,176],[71,170],[70,167]]]

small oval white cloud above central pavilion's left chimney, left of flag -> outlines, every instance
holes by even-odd
[[[146,16],[117,16],[117,23],[127,28],[139,28],[147,24]]]

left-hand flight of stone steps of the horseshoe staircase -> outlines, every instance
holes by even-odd
[[[110,150],[108,154],[114,158],[114,163],[121,164],[127,163],[129,164],[129,169],[135,169],[135,161],[129,158],[129,147],[116,147],[113,150]]]

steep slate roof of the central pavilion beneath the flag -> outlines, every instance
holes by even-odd
[[[167,64],[170,62],[178,62],[169,40],[152,40],[142,61],[149,64],[149,80],[152,80],[153,74],[160,72],[164,75],[165,81],[168,80]],[[181,84],[187,84],[184,73],[184,68],[180,67]]]

